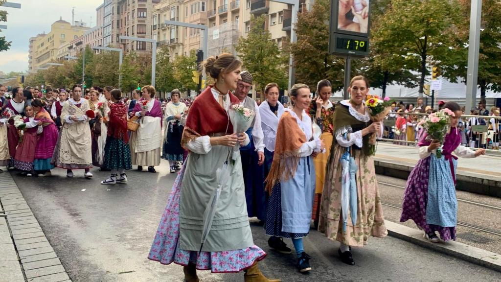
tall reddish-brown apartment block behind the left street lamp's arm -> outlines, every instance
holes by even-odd
[[[153,5],[158,3],[160,0],[118,0],[117,27],[119,27],[119,35],[150,39],[152,36]],[[126,54],[131,51],[138,54],[151,53],[150,43],[130,40],[119,40],[118,42]]]

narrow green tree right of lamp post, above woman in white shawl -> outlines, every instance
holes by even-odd
[[[175,70],[170,62],[169,48],[162,45],[156,54],[155,87],[158,91],[169,92],[181,88],[181,84],[174,78]]]

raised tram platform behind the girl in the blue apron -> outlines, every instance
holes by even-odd
[[[374,157],[377,174],[407,179],[418,161],[416,147],[386,142],[377,144]],[[458,158],[456,180],[457,190],[501,197],[501,157]]]

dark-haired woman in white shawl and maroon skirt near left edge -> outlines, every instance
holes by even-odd
[[[10,99],[4,106],[12,115],[25,115],[25,101],[23,99],[23,88],[14,87],[12,89],[12,99]],[[7,125],[7,139],[9,141],[9,154],[11,160],[9,161],[9,169],[14,169],[14,157],[16,156],[16,148],[19,144],[18,128],[14,126],[14,116],[9,119]]]

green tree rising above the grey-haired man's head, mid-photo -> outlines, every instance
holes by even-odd
[[[287,85],[289,54],[284,54],[263,27],[266,15],[251,16],[247,38],[240,37],[235,50],[243,67],[253,75],[256,90],[264,93],[266,84],[275,82],[284,89]],[[261,97],[264,100],[263,97]]]

